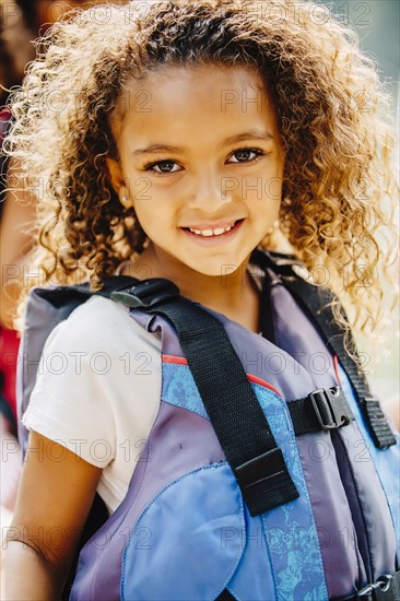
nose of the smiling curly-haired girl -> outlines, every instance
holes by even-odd
[[[201,209],[205,213],[215,213],[217,209],[232,201],[232,193],[236,189],[232,178],[223,177],[214,169],[202,172],[193,182],[189,195],[189,207]]]

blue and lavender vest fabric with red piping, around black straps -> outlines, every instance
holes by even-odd
[[[71,600],[399,599],[399,444],[383,420],[372,434],[377,413],[366,417],[349,363],[277,273],[297,282],[291,261],[273,269],[279,258],[255,259],[266,273],[268,338],[203,310],[222,323],[296,494],[255,509],[246,486],[259,475],[268,493],[281,472],[267,468],[261,478],[250,466],[246,482],[232,468],[163,296],[152,310],[136,302],[132,319],[162,332],[160,412],[128,494],[80,553]],[[114,297],[123,300],[127,290]],[[56,313],[64,293],[58,303],[54,293]],[[82,291],[73,294],[83,302]],[[228,413],[225,421],[231,427]]]

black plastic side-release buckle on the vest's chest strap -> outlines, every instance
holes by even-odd
[[[322,429],[345,426],[352,420],[353,415],[349,415],[349,405],[339,386],[319,388],[308,396]]]

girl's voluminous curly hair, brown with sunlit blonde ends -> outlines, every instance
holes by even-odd
[[[105,156],[117,156],[110,115],[129,81],[169,64],[252,66],[268,82],[284,145],[281,229],[314,279],[350,302],[353,326],[377,325],[396,235],[391,101],[356,34],[328,9],[129,2],[77,12],[42,43],[46,51],[12,98],[8,138],[8,153],[42,182],[40,283],[89,278],[99,287],[145,248],[105,168]],[[338,307],[336,318],[344,326]]]

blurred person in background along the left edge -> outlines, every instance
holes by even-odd
[[[123,4],[126,0],[59,1],[0,0],[0,148],[11,113],[7,98],[20,85],[26,64],[35,59],[33,40],[46,33],[56,21],[73,9],[94,4]],[[38,45],[38,50],[40,46]],[[0,158],[0,437],[1,506],[12,511],[21,471],[21,452],[16,439],[15,372],[19,338],[13,329],[13,314],[20,295],[21,279],[35,227],[34,189],[13,188],[17,165]],[[11,188],[11,189],[8,189]]]

